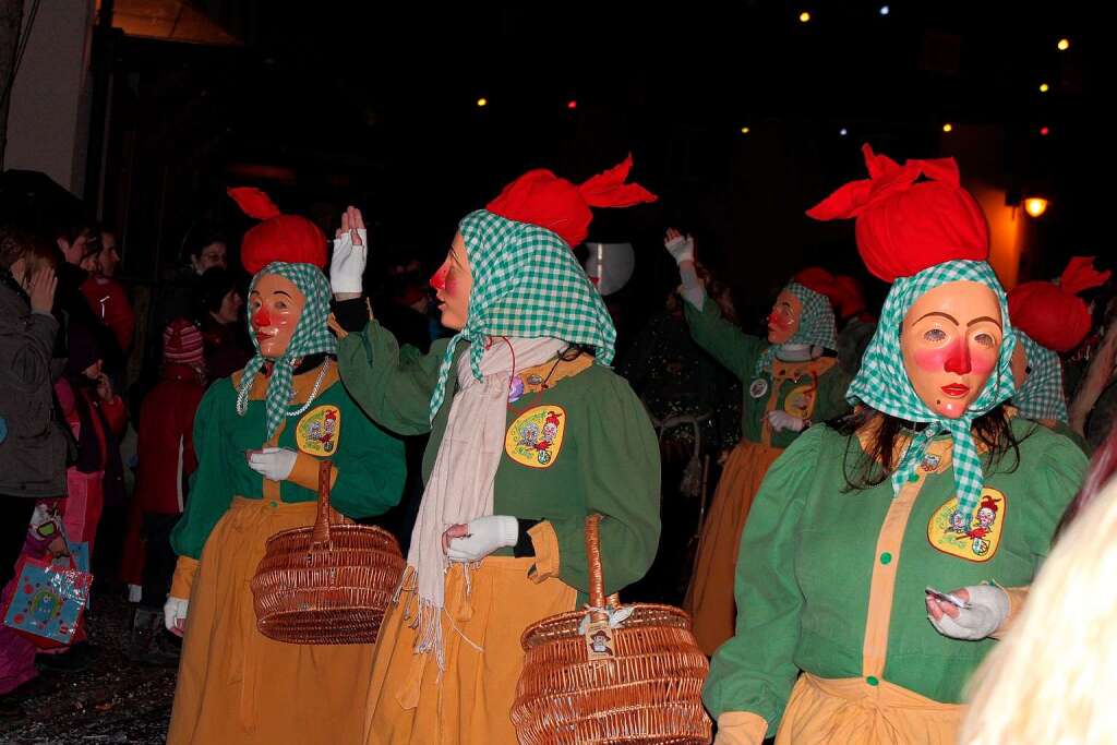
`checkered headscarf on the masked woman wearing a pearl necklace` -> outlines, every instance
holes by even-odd
[[[306,306],[303,315],[298,318],[295,333],[290,337],[290,344],[283,353],[283,356],[275,361],[271,376],[268,379],[268,392],[265,397],[267,413],[268,439],[275,437],[279,423],[287,416],[287,405],[290,403],[290,394],[294,390],[292,378],[296,362],[308,354],[337,352],[337,340],[330,333],[326,322],[330,318],[330,280],[322,274],[322,269],[313,264],[287,264],[284,261],[273,261],[252,277],[249,286],[249,294],[256,289],[256,283],[264,275],[277,275],[289,279],[298,287],[298,292],[306,297]],[[252,309],[248,309],[248,331],[252,338],[252,346],[256,347],[256,356],[245,365],[245,372],[240,380],[240,393],[247,395],[252,390],[252,381],[264,367],[265,359],[260,355],[260,344],[252,329]]]

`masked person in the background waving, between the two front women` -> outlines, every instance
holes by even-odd
[[[729,453],[706,518],[684,608],[695,638],[713,655],[733,636],[734,567],[748,509],[768,467],[812,421],[847,411],[849,375],[833,351],[834,314],[827,292],[832,276],[811,267],[781,290],[768,314],[766,338],[752,336],[722,317],[695,270],[694,239],[674,228],[665,246],[679,265],[680,294],[690,335],[744,384],[741,442]],[[829,352],[829,354],[823,354]],[[744,554],[739,561],[747,562]]]

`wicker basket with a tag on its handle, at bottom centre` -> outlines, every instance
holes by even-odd
[[[599,515],[585,526],[590,605],[607,608]],[[617,595],[608,608],[621,608]],[[601,656],[591,643],[608,614],[553,615],[524,631],[526,657],[512,720],[522,745],[643,743],[699,745],[710,741],[701,704],[709,662],[690,632],[690,617],[670,605],[626,606],[632,614],[611,629]],[[600,631],[599,631],[600,633]]]

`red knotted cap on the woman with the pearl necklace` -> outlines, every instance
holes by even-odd
[[[326,237],[306,218],[283,214],[259,189],[238,187],[229,195],[250,218],[262,220],[245,233],[240,243],[240,262],[249,274],[256,274],[273,261],[326,266]]]

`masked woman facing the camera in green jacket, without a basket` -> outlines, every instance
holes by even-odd
[[[787,448],[753,505],[736,636],[704,690],[718,745],[954,743],[966,681],[1086,471],[1003,405],[1015,329],[957,165],[865,155],[870,178],[808,214],[856,218],[892,286],[853,413]]]

